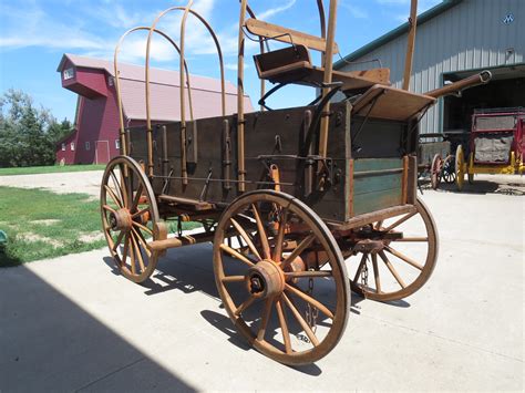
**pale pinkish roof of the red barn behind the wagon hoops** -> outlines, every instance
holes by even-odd
[[[66,62],[70,61],[76,68],[103,70],[109,75],[114,76],[113,62],[80,56],[75,54],[64,54],[56,69],[61,72]],[[145,70],[143,66],[120,63],[119,72],[121,76],[121,93],[124,113],[128,120],[146,118],[145,101]],[[151,108],[152,118],[156,121],[178,121],[181,120],[181,80],[177,71],[152,68],[150,72],[151,81]],[[191,74],[192,101],[195,118],[219,116],[220,111],[220,80]],[[237,112],[237,87],[226,81],[226,113]],[[187,103],[187,101],[186,101]],[[251,103],[245,95],[245,110],[251,112]],[[186,116],[189,118],[189,108],[186,104]]]

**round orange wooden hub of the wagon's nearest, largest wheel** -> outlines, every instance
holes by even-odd
[[[262,260],[245,276],[248,292],[256,298],[272,298],[285,290],[285,275],[272,261]]]

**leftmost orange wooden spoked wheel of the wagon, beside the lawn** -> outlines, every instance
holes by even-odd
[[[156,240],[158,210],[150,180],[133,158],[120,156],[107,164],[101,214],[110,252],[121,272],[134,282],[146,280],[158,259],[158,251],[147,247]]]

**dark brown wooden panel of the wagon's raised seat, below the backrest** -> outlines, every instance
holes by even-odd
[[[256,54],[254,60],[259,77],[264,77],[268,71],[281,69],[287,65],[297,63],[311,64],[310,53],[305,45],[287,46],[277,51]]]

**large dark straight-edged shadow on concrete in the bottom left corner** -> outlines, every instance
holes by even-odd
[[[1,392],[195,391],[24,266],[0,288]]]

